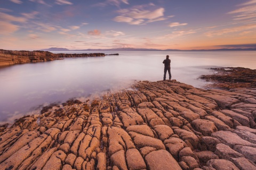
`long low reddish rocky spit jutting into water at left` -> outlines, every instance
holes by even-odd
[[[105,54],[103,53],[53,54],[51,52],[44,52],[44,51],[30,52],[30,51],[0,49],[0,66],[61,60],[62,58],[68,58],[68,57],[97,57],[97,56],[105,56]]]

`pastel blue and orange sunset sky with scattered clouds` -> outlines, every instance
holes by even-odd
[[[0,49],[256,48],[256,0],[1,0]]]

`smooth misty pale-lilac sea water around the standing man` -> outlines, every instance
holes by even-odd
[[[162,80],[162,62],[166,55],[171,59],[172,79],[201,88],[206,82],[198,77],[210,74],[210,67],[256,69],[255,51],[102,53],[119,53],[119,56],[66,58],[0,68],[0,123],[12,122],[25,114],[37,114],[40,107],[50,103],[61,103],[70,98],[85,100],[104,92],[128,88],[134,80]]]

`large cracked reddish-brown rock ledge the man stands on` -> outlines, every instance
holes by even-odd
[[[2,126],[0,169],[256,169],[255,88],[133,88]]]

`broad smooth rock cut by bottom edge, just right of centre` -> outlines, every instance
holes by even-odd
[[[147,167],[150,170],[157,169],[175,169],[181,170],[181,167],[176,162],[176,160],[172,157],[172,155],[166,150],[157,150],[150,152],[145,157]]]

